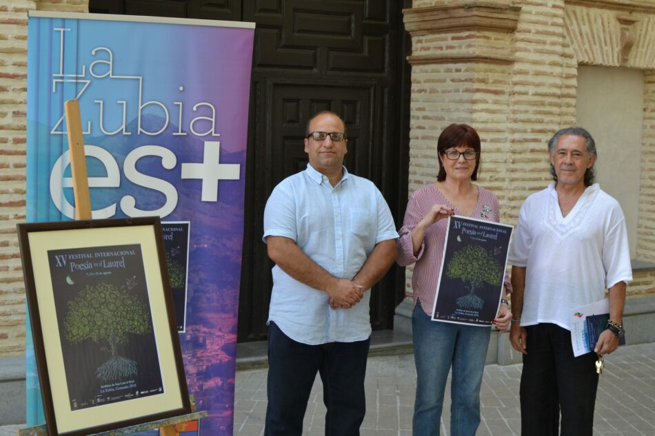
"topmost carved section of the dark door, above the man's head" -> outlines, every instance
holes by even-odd
[[[254,65],[388,76],[388,54],[397,32],[391,28],[397,18],[391,18],[390,5],[396,3],[296,0],[272,9],[252,2],[245,6],[243,20],[257,23]]]

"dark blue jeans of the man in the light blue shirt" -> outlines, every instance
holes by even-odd
[[[268,327],[268,408],[265,436],[300,436],[310,391],[323,381],[325,436],[359,436],[366,400],[364,376],[370,339],[307,345]]]

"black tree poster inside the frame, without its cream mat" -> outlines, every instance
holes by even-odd
[[[48,251],[72,411],[163,393],[140,245]]]

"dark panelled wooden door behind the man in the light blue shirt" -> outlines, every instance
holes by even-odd
[[[256,23],[245,175],[239,342],[265,340],[272,262],[261,240],[274,186],[307,165],[307,120],[341,114],[345,165],[372,180],[396,225],[407,203],[409,68],[401,9],[410,0],[90,0],[90,12]],[[403,269],[374,288],[374,329],[390,329]]]

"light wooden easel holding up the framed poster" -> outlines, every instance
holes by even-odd
[[[77,100],[68,100],[64,103],[66,111],[66,129],[68,129],[68,150],[70,152],[70,169],[73,179],[73,195],[75,198],[75,219],[90,220],[91,199],[89,194],[89,179],[86,172],[86,158],[84,155],[84,138],[82,136],[82,121]],[[159,428],[159,436],[178,436],[184,430],[183,423],[201,419],[208,415],[207,411],[196,411],[196,402],[190,395],[192,413],[179,415],[158,421],[146,422],[136,426],[120,428],[118,430],[95,433],[94,436],[123,436],[132,435],[145,430]],[[47,436],[46,426],[35,426],[17,430],[17,436]]]

